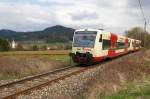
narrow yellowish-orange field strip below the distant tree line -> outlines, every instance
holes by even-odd
[[[68,55],[70,50],[49,50],[49,51],[8,51],[0,52],[0,55]]]

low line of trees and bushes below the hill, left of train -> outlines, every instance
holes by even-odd
[[[28,44],[17,42],[15,48],[12,48],[12,42],[0,38],[0,51],[44,51],[44,50],[68,50],[71,49],[71,43],[42,43],[42,44]]]

